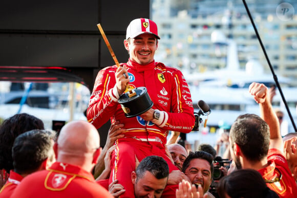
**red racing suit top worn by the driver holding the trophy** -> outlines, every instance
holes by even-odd
[[[154,103],[152,108],[167,112],[165,126],[159,127],[152,122],[142,121],[139,116],[125,117],[117,99],[113,98],[116,65],[102,69],[97,75],[87,111],[89,122],[99,128],[110,118],[112,123],[118,120],[129,129],[125,132],[126,137],[157,138],[161,144],[166,143],[167,130],[189,133],[195,122],[194,108],[182,73],[154,61],[148,65],[139,65],[129,60],[126,66],[130,85],[133,88],[146,87]],[[160,75],[163,75],[165,81],[161,82]]]

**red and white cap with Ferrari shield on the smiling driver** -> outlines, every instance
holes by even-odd
[[[144,33],[154,34],[158,39],[158,28],[154,21],[147,18],[136,18],[131,21],[127,28],[126,39],[135,38]]]

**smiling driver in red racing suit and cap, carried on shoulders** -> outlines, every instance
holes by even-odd
[[[169,172],[177,170],[164,148],[168,130],[189,133],[195,122],[192,99],[182,73],[154,60],[158,39],[154,21],[132,20],[124,40],[130,55],[128,62],[121,63],[119,68],[114,65],[99,71],[90,98],[89,122],[99,128],[111,119],[112,123],[124,124],[126,129],[125,137],[116,141],[109,182],[118,180],[124,186],[126,191],[121,197],[134,197],[130,175],[135,170],[135,156],[139,161],[151,155],[160,156],[168,163]],[[132,88],[146,87],[154,103],[147,112],[132,118],[125,117],[118,103],[128,84]]]

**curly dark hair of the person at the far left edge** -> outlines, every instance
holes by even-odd
[[[22,113],[4,120],[0,126],[0,169],[13,170],[11,148],[15,138],[32,129],[45,129],[43,121]]]

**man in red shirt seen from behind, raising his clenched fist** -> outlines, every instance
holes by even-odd
[[[280,197],[295,197],[296,183],[284,157],[278,118],[267,99],[267,87],[253,82],[249,92],[260,105],[262,120],[254,114],[239,116],[230,129],[230,152],[238,169],[258,170],[267,186]]]

